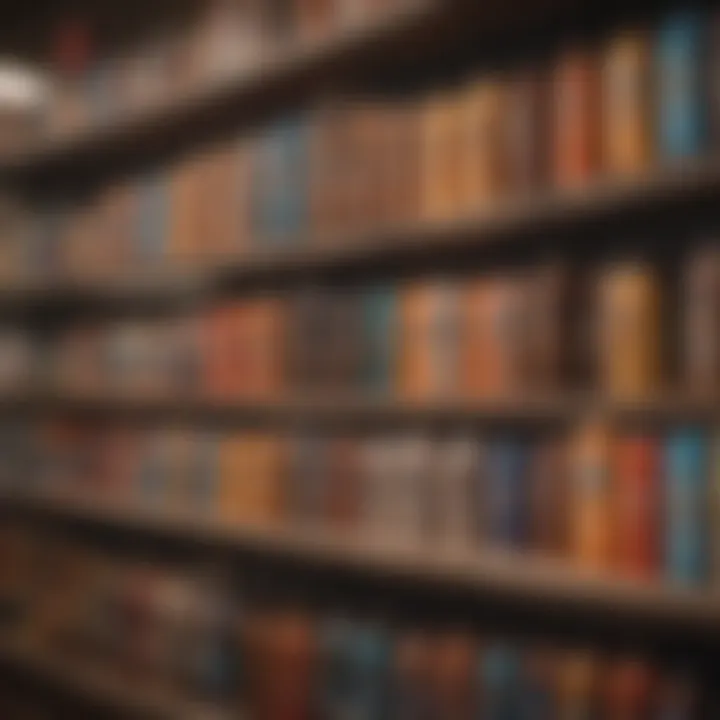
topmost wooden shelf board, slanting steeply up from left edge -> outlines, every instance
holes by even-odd
[[[447,11],[431,0],[391,12],[381,22],[331,37],[312,47],[292,47],[252,71],[203,88],[151,110],[84,129],[11,158],[0,168],[6,181],[37,182],[70,171],[112,172],[128,162],[163,157],[195,138],[212,139],[228,127],[247,127],[292,107],[331,80],[347,76],[352,63],[375,50],[422,37]]]

